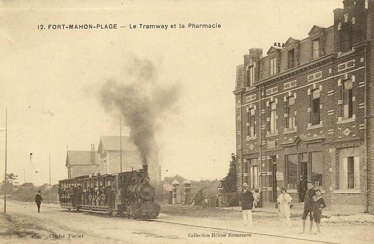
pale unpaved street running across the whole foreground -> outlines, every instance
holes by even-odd
[[[48,206],[57,208],[48,208]],[[3,207],[4,205],[2,205]],[[293,228],[282,227],[279,219],[274,217],[274,215],[262,212],[253,214],[254,226],[252,227],[244,227],[241,224],[240,211],[233,212],[231,215],[228,214],[224,220],[206,219],[203,216],[201,218],[191,218],[160,214],[157,222],[109,217],[101,214],[76,211],[69,212],[59,209],[56,204],[42,204],[41,213],[38,214],[36,205],[12,200],[7,201],[7,214],[10,216],[10,223],[8,223],[3,215],[3,218],[0,219],[2,221],[0,229],[3,229],[5,225],[5,228],[13,233],[3,235],[4,238],[0,236],[0,243],[289,244],[290,242],[320,243],[322,241],[330,243],[353,243],[351,241],[355,243],[373,243],[374,240],[372,234],[373,224],[363,224],[361,226],[357,224],[343,224],[340,228],[334,226],[334,223],[332,223],[332,226],[330,224],[326,226],[322,225],[323,234],[316,236],[309,233],[298,234],[300,231],[299,225],[301,224],[298,218],[292,220]],[[232,216],[235,219],[231,219]],[[308,225],[309,223],[307,223],[307,227]],[[248,235],[247,233],[252,234]],[[261,233],[265,235],[261,235]],[[216,236],[213,237],[213,234]],[[268,236],[266,234],[286,236],[291,237],[291,239]],[[302,239],[309,239],[309,241]]]

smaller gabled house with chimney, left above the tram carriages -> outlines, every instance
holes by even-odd
[[[68,150],[65,163],[67,178],[95,174],[100,166],[99,162],[94,144],[91,144],[91,151]]]

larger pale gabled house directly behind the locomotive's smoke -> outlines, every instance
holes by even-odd
[[[152,144],[153,151],[148,159],[148,173],[151,179],[161,180],[158,149],[155,142]],[[101,136],[97,153],[100,158],[100,174],[114,174],[143,168],[138,148],[127,136]]]

